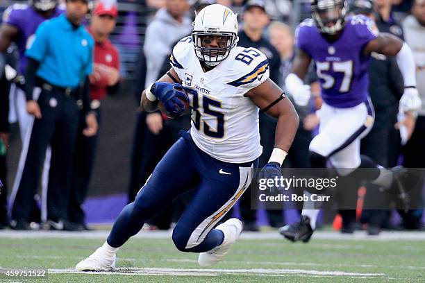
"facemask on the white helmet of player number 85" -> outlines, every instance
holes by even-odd
[[[218,47],[206,46],[214,37],[218,37]],[[192,31],[192,40],[197,58],[206,65],[215,67],[228,58],[231,49],[238,43],[238,35],[226,32]]]

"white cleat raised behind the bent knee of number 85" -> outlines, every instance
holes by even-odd
[[[223,259],[232,244],[238,240],[242,232],[242,222],[238,218],[230,218],[215,229],[223,231],[224,241],[221,245],[213,248],[213,250],[199,254],[198,264],[200,266],[211,266]]]

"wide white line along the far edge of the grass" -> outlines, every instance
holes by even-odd
[[[62,231],[13,231],[1,230],[0,238],[69,238],[69,239],[106,239],[109,231],[95,230],[85,232],[62,232]],[[171,239],[172,230],[168,231],[146,231],[142,230],[133,238],[139,239]],[[242,239],[265,240],[282,239],[280,234],[275,231],[270,232],[243,232]],[[368,236],[365,231],[358,231],[354,234],[341,234],[334,231],[317,231],[313,234],[313,239],[325,240],[356,240],[356,241],[387,241],[387,240],[410,240],[424,241],[425,232],[414,231],[383,231],[378,236]]]

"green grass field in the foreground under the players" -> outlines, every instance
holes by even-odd
[[[0,237],[2,268],[47,268],[44,279],[0,282],[421,282],[425,241],[240,239],[212,268],[197,254],[178,252],[171,239],[131,239],[119,250],[117,271],[75,273],[75,264],[101,239]]]

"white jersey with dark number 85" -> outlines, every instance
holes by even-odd
[[[185,37],[174,47],[170,63],[183,84],[197,90],[190,97],[194,143],[224,162],[256,160],[262,153],[258,108],[244,94],[269,78],[266,56],[236,46],[226,60],[204,72],[192,38]]]

